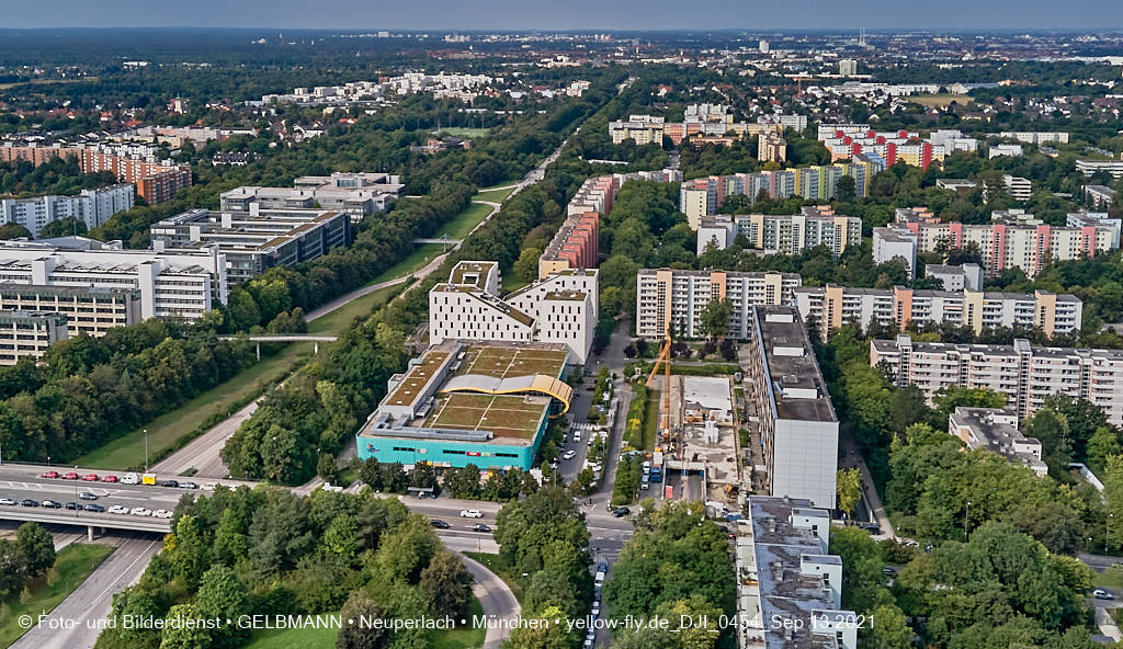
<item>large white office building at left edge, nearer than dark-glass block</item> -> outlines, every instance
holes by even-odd
[[[198,320],[226,304],[226,257],[217,247],[157,253],[88,243],[88,249],[77,250],[48,243],[4,241],[0,245],[0,286],[134,289],[139,291],[143,320]]]

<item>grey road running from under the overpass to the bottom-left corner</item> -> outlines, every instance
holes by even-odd
[[[161,536],[143,532],[115,534],[102,542],[112,545],[113,554],[47,615],[46,623],[33,627],[10,649],[93,647],[101,632],[100,622],[109,615],[113,595],[135,584],[163,547]],[[76,623],[72,628],[58,628],[57,623],[51,624],[51,620]]]

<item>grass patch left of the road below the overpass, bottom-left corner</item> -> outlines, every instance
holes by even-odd
[[[19,627],[20,615],[38,615],[53,611],[112,551],[113,548],[109,546],[73,543],[58,552],[51,573],[28,582],[27,588],[31,592],[31,598],[26,604],[20,604],[19,593],[3,601],[8,614],[0,616],[0,647],[11,646],[27,631]]]

